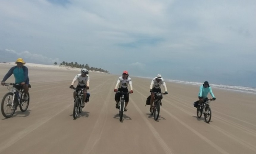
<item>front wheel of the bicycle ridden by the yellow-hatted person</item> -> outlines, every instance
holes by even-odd
[[[7,94],[4,95],[2,103],[1,103],[1,111],[2,111],[2,115],[5,118],[10,118],[13,116],[16,108],[15,108],[15,100],[14,103],[12,103],[13,101],[13,93],[8,92]]]

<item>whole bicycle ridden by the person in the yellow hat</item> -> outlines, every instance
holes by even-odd
[[[29,92],[27,93],[27,100],[24,100],[24,89],[21,84],[5,83],[4,86],[7,86],[9,92],[4,95],[1,103],[1,112],[5,118],[10,118],[17,110],[17,107],[20,107],[21,112],[25,112],[29,106]],[[18,90],[17,86],[20,86]],[[17,88],[16,88],[17,87]],[[29,88],[31,85],[29,84]]]

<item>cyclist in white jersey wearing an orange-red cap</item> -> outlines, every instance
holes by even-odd
[[[117,91],[128,92],[128,88],[127,88],[128,84],[130,85],[130,89],[131,89],[130,93],[133,93],[133,91],[132,91],[132,80],[129,77],[128,71],[125,70],[123,72],[123,75],[118,78],[117,83],[115,85],[114,92],[117,92]],[[120,101],[121,96],[122,96],[122,94],[115,93],[115,102],[116,102],[115,108],[117,108],[117,109],[119,109],[118,102]],[[125,102],[124,111],[127,111],[126,107],[127,107],[128,102],[129,102],[129,94],[124,95],[124,102]]]

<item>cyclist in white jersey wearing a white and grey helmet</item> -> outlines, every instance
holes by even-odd
[[[85,88],[85,89],[89,89],[89,83],[90,83],[90,77],[88,76],[89,71],[86,68],[82,68],[81,69],[81,73],[77,74],[74,78],[74,80],[71,83],[71,88],[74,87],[74,83],[77,81],[77,88]],[[74,91],[73,96],[74,99],[76,98],[76,94],[77,94],[78,90]],[[83,101],[81,106],[84,107],[85,103],[84,102],[88,102],[88,100],[86,99],[87,97],[87,90],[84,90],[84,96],[83,96]]]

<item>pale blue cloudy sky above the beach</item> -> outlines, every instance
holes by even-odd
[[[0,62],[256,87],[255,0],[1,0]]]

